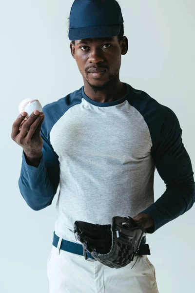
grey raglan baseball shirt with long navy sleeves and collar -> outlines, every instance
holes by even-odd
[[[110,224],[146,212],[154,233],[192,208],[195,181],[176,114],[126,84],[117,101],[96,102],[84,86],[45,105],[39,167],[22,153],[21,195],[34,210],[51,205],[59,186],[55,232],[76,242],[76,220]],[[154,202],[157,169],[166,190]]]

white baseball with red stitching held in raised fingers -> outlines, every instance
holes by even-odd
[[[37,99],[24,99],[19,105],[19,113],[26,112],[27,117],[29,117],[35,110],[42,112],[42,106]]]

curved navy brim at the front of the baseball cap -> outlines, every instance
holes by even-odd
[[[70,41],[91,38],[109,38],[117,36],[119,32],[120,24],[78,27],[69,29],[68,38]]]

